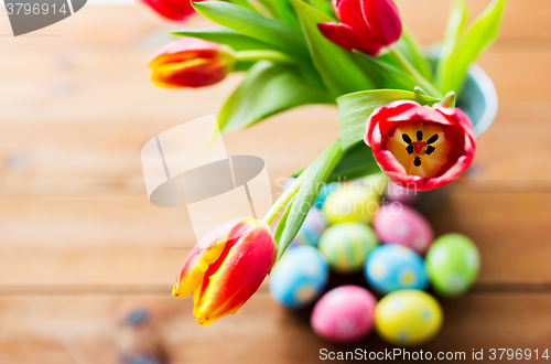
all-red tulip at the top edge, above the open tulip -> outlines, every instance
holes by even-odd
[[[392,0],[333,0],[332,3],[341,23],[321,23],[317,28],[343,49],[377,56],[400,39],[402,23]]]

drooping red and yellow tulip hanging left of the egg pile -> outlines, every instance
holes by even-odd
[[[206,326],[236,313],[276,259],[270,227],[255,218],[226,222],[208,232],[185,259],[172,296],[193,292],[195,322]]]

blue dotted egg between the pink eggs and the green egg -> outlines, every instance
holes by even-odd
[[[412,249],[398,244],[380,245],[369,253],[365,275],[381,293],[399,289],[425,289],[429,286],[423,259]]]

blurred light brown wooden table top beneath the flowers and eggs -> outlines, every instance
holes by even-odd
[[[468,2],[477,14],[489,1]],[[447,9],[401,1],[423,44],[443,34]],[[196,92],[153,87],[147,58],[180,25],[143,7],[88,6],[20,38],[0,12],[0,363],[115,363],[120,321],[140,307],[174,363],[310,363],[322,347],[356,347],[316,338],[307,317],[277,306],[266,285],[206,329],[193,323],[188,299],[170,296],[194,236],[185,210],[148,202],[140,150],[216,113],[240,75]],[[499,113],[475,169],[432,222],[439,234],[471,236],[483,268],[472,292],[443,301],[444,329],[421,349],[541,352],[551,346],[551,1],[510,0],[479,64]],[[263,158],[280,191],[336,135],[336,110],[309,106],[225,141],[230,154]],[[390,346],[371,335],[357,347]]]

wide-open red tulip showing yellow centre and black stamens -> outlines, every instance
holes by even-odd
[[[432,190],[455,180],[475,153],[471,121],[458,108],[421,106],[409,100],[377,108],[364,141],[395,183]]]

